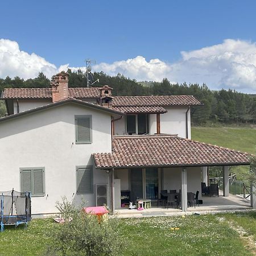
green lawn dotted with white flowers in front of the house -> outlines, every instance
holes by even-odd
[[[232,227],[242,226],[256,241],[255,213],[185,217],[119,219],[117,228],[126,245],[118,255],[253,255]],[[0,234],[0,255],[43,255],[55,228],[51,218],[33,220],[24,230],[6,228]],[[174,230],[174,228],[178,228]],[[118,237],[117,237],[118,239]]]

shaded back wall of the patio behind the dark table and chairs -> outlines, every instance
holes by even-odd
[[[201,168],[188,167],[187,168],[187,185],[188,192],[196,193],[199,191],[199,198],[201,199]],[[177,192],[181,189],[181,168],[163,168],[162,176],[163,189],[176,189]]]

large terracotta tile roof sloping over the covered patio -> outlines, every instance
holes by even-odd
[[[96,168],[249,164],[240,151],[172,135],[114,137],[112,153],[94,153]]]

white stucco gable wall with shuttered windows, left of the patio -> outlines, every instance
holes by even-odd
[[[76,144],[75,115],[89,114],[92,143]],[[69,103],[0,123],[0,191],[20,191],[20,167],[44,167],[46,196],[32,197],[32,214],[56,212],[61,196],[80,204],[76,166],[93,165],[92,152],[111,152],[110,120],[108,113]],[[93,170],[94,191],[98,183],[108,183],[103,170]],[[94,194],[84,199],[95,205]]]

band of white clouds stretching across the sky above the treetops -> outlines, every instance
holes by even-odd
[[[0,77],[19,76],[34,78],[39,71],[51,77],[56,72],[81,69],[68,64],[56,68],[35,53],[20,51],[18,43],[0,39]],[[256,44],[244,40],[226,39],[221,44],[195,51],[181,52],[181,59],[166,63],[159,59],[147,61],[143,56],[133,59],[93,65],[93,71],[108,75],[122,73],[137,81],[205,82],[210,89],[231,88],[241,92],[256,93]]]

